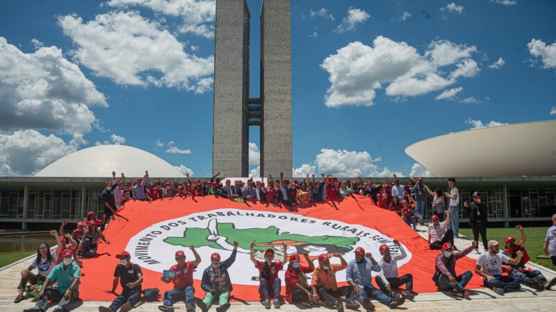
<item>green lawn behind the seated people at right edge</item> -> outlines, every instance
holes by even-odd
[[[523,230],[525,230],[525,237],[527,239],[525,249],[527,250],[529,257],[531,257],[530,261],[538,263],[541,266],[545,266],[546,268],[556,270],[556,266],[553,266],[550,259],[537,259],[537,256],[541,254],[544,255],[543,244],[548,227],[523,227]],[[473,232],[471,232],[471,229],[460,228],[459,234],[473,238]],[[498,241],[498,243],[500,243],[500,250],[504,249],[504,240],[507,236],[515,237],[516,243],[519,243],[521,240],[521,234],[515,227],[486,229],[486,239],[489,241],[491,239]],[[480,250],[482,250],[482,243],[480,239],[481,236],[479,236],[479,247]]]

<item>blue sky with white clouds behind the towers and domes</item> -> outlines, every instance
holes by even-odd
[[[261,1],[247,2],[258,97]],[[430,175],[404,148],[556,117],[555,1],[291,7],[295,173]],[[0,175],[103,143],[210,175],[213,24],[208,0],[1,1]]]

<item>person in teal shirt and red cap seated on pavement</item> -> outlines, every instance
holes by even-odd
[[[66,249],[61,252],[63,263],[58,264],[51,270],[47,279],[44,280],[38,294],[38,301],[31,309],[24,312],[38,312],[47,310],[47,302],[58,302],[55,312],[65,312],[74,299],[79,297],[79,277],[81,268],[72,261],[72,250]],[[51,282],[57,281],[56,288],[48,288]]]

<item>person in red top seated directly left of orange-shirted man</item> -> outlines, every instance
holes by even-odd
[[[313,290],[307,284],[305,277],[306,273],[313,272],[315,265],[309,259],[309,252],[304,251],[303,257],[309,266],[302,266],[299,254],[292,254],[290,256],[290,263],[286,270],[286,301],[290,304],[300,302],[304,306],[311,306],[313,301]],[[320,304],[320,301],[315,302]]]

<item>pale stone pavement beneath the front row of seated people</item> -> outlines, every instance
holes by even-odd
[[[427,227],[418,226],[417,232],[427,238]],[[471,244],[471,240],[466,237],[457,238],[455,240],[455,245],[460,249],[465,248],[467,245]],[[471,252],[468,257],[476,259],[478,254]],[[17,295],[17,284],[19,283],[19,271],[23,270],[31,262],[31,257],[24,259],[22,261],[17,261],[15,263],[6,266],[5,268],[0,268],[0,311],[23,311],[23,309],[31,308],[34,303],[31,300],[24,300],[19,304],[14,304],[13,300]],[[543,268],[542,266],[536,266],[531,263],[537,270],[541,270],[547,278],[556,277],[556,272]],[[109,288],[111,286],[111,281],[107,281],[106,285],[99,285],[99,288]],[[555,287],[556,288],[556,287]],[[404,305],[398,307],[396,310],[411,310],[411,311],[555,311],[556,302],[556,291],[541,291],[535,292],[532,288],[523,287],[519,291],[512,293],[507,293],[503,296],[496,295],[491,290],[487,288],[475,289],[470,291],[471,300],[464,300],[458,297],[450,295],[449,292],[436,292],[436,293],[421,293],[415,297],[414,301],[406,301]],[[136,309],[132,311],[158,311],[158,305],[161,302],[155,303],[140,303]],[[379,302],[374,302],[376,306],[376,311],[388,311],[388,307],[379,304]],[[73,311],[98,311],[98,306],[110,305],[110,302],[73,302],[71,308]],[[54,310],[54,304],[50,305],[49,311]],[[174,305],[177,311],[186,311],[185,305],[182,303],[177,303]],[[277,310],[272,308],[272,310]],[[296,306],[291,304],[286,304],[281,306],[279,310],[282,311],[302,311],[306,310],[302,306]],[[196,310],[200,311],[199,309]],[[211,308],[211,311],[215,311],[215,307]],[[230,312],[235,311],[266,311],[259,302],[247,302],[238,303],[234,302],[231,304]],[[315,312],[330,312],[334,311],[332,309],[314,307],[311,311]],[[346,310],[350,311],[350,310]],[[360,308],[360,312],[363,309]]]

